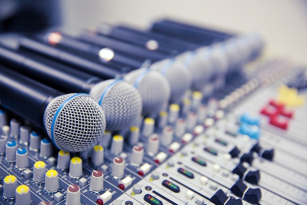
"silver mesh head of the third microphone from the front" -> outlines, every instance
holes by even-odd
[[[168,103],[170,85],[160,73],[140,68],[128,73],[125,80],[140,92],[143,100],[143,115],[159,112]]]

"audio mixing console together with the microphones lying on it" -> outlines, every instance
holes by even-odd
[[[263,46],[173,20],[0,45],[0,204],[307,205],[307,68]]]

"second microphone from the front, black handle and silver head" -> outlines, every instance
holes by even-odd
[[[122,79],[102,81],[51,59],[1,47],[0,60],[11,69],[61,91],[90,93],[105,113],[107,130],[126,128],[141,115],[139,92]]]

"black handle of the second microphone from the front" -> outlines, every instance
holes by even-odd
[[[89,93],[96,83],[102,81],[102,79],[93,75],[75,70],[50,59],[1,47],[0,61],[12,70],[66,93]]]

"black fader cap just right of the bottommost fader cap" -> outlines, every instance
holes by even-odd
[[[233,194],[251,204],[258,204],[261,199],[261,190],[259,188],[252,189],[240,179],[233,184],[230,190]]]

